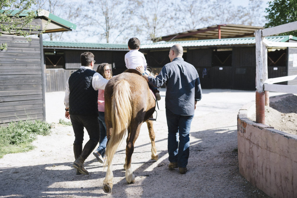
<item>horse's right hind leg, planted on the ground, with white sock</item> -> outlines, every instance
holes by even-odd
[[[135,175],[133,175],[133,171],[131,168],[131,158],[134,152],[134,143],[138,138],[140,132],[140,126],[133,126],[131,123],[128,129],[128,137],[127,137],[127,145],[126,145],[126,159],[124,164],[124,169],[126,170],[125,176],[127,183],[135,183]]]

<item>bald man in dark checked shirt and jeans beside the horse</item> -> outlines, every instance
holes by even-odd
[[[181,174],[187,172],[189,132],[197,101],[200,101],[202,97],[197,70],[193,65],[184,61],[183,51],[181,45],[173,45],[169,51],[171,62],[163,66],[156,78],[146,75],[143,66],[136,68],[151,86],[161,87],[165,84],[170,161],[168,168],[178,168]]]

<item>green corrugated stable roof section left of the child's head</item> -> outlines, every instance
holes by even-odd
[[[44,48],[89,48],[89,49],[115,49],[128,50],[127,44],[110,44],[110,43],[81,43],[81,42],[60,42],[60,41],[43,41]]]

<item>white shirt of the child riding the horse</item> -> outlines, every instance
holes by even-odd
[[[125,63],[128,69],[136,69],[137,66],[143,66],[146,70],[146,58],[138,50],[130,50],[125,54]]]

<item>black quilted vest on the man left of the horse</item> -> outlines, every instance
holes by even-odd
[[[69,77],[70,115],[98,116],[98,90],[92,86],[94,73],[91,69],[78,69]]]

